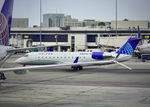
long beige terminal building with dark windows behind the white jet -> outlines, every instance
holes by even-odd
[[[111,28],[71,27],[68,30],[63,30],[60,27],[43,27],[41,33],[38,27],[14,27],[11,29],[10,44],[21,48],[37,46],[40,44],[41,35],[42,45],[51,46],[59,44],[60,51],[84,51],[86,49],[98,48],[99,45],[120,47],[128,38],[137,37],[137,25],[140,25],[141,37],[145,40],[150,39],[148,21],[135,21],[131,24],[132,26],[124,24],[125,22],[119,22],[117,36],[113,21],[111,22]],[[133,27],[134,29],[132,29]]]

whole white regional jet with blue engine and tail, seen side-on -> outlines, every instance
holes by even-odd
[[[71,66],[73,70],[82,70],[85,65],[104,65],[129,60],[141,39],[130,38],[116,52],[31,52],[16,60],[22,65],[42,65],[38,67]],[[30,67],[27,67],[30,68]]]

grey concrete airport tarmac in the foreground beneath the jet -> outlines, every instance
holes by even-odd
[[[12,64],[11,57],[5,66]],[[25,75],[5,72],[0,107],[150,107],[150,62],[133,58],[119,65],[31,70]]]

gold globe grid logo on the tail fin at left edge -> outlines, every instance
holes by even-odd
[[[9,29],[5,16],[0,13],[0,45],[8,45]]]

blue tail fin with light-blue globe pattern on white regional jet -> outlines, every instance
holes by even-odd
[[[120,54],[132,55],[140,40],[141,39],[139,38],[129,38],[128,41],[116,52],[118,53],[117,57]]]

